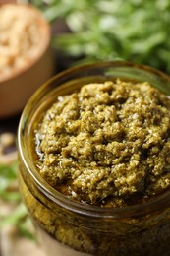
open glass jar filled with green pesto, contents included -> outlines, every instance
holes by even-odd
[[[30,97],[19,181],[47,255],[170,254],[169,95],[167,75],[116,61]]]

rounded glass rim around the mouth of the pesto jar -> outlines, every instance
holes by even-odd
[[[80,71],[85,71],[86,69],[91,69],[93,67],[108,67],[108,66],[121,66],[121,67],[129,67],[129,68],[137,68],[139,70],[144,70],[147,73],[152,73],[158,77],[161,77],[161,79],[165,80],[170,87],[170,77],[163,72],[156,70],[154,68],[144,66],[141,64],[135,64],[132,62],[127,61],[110,61],[110,62],[96,62],[92,64],[85,64],[79,67],[72,67],[69,68],[63,72],[60,72],[59,74],[55,75],[51,79],[49,79],[44,85],[42,85],[34,94],[30,97],[28,100],[27,105],[25,106],[25,109],[21,115],[21,119],[19,122],[19,128],[18,128],[18,150],[20,152],[20,156],[25,164],[25,167],[27,168],[28,173],[33,178],[38,190],[41,191],[43,195],[45,195],[47,198],[50,199],[53,203],[60,205],[61,207],[84,215],[84,216],[90,216],[93,218],[112,218],[112,219],[122,219],[122,218],[136,218],[142,215],[151,214],[156,211],[160,211],[163,208],[166,208],[170,206],[170,190],[167,190],[163,192],[162,194],[156,196],[155,198],[150,199],[150,201],[147,201],[142,204],[136,204],[136,205],[130,205],[130,206],[123,206],[123,207],[100,207],[100,206],[93,206],[89,204],[84,204],[81,202],[74,201],[64,194],[60,193],[56,189],[54,189],[52,186],[50,186],[45,179],[41,177],[41,175],[36,170],[35,166],[31,162],[30,158],[26,157],[26,151],[25,151],[25,145],[24,145],[24,129],[26,127],[26,112],[28,110],[28,106],[32,103],[32,101],[35,100],[37,94],[39,92],[43,92],[45,88],[48,87],[50,83],[55,81],[56,79],[63,78],[64,76],[68,76],[72,73],[77,73]]]

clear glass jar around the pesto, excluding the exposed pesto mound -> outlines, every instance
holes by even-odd
[[[47,184],[33,161],[33,130],[57,96],[69,95],[91,82],[118,77],[147,81],[170,95],[170,78],[157,70],[121,61],[96,63],[53,77],[31,96],[22,114],[18,132],[20,189],[47,255],[170,254],[170,191],[142,205],[85,205]]]

